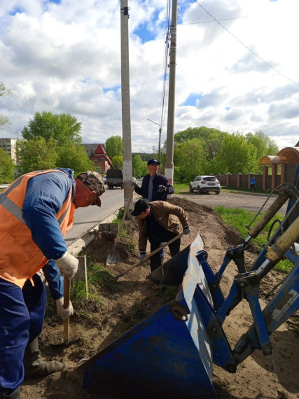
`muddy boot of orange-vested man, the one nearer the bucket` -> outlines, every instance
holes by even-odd
[[[25,378],[46,377],[53,372],[61,371],[64,364],[53,360],[47,362],[39,357],[39,341],[36,337],[25,349],[24,357]]]

